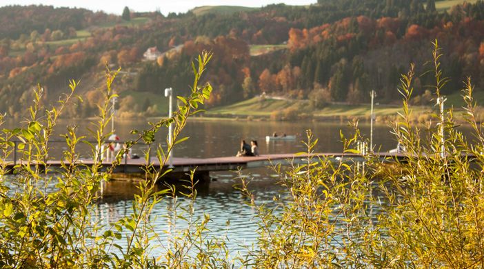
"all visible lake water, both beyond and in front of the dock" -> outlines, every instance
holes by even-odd
[[[72,121],[61,121],[57,133],[61,133],[62,126],[72,124]],[[91,123],[79,121],[79,132],[88,135],[88,128],[92,128]],[[121,140],[132,139],[129,135],[130,130],[147,128],[143,121],[117,121],[115,129]],[[365,137],[370,135],[370,126],[362,125],[361,132]],[[314,138],[319,142],[314,149],[315,152],[341,152],[343,145],[340,139],[340,130],[347,136],[352,135],[352,128],[345,123],[321,123],[312,121],[299,121],[296,123],[281,123],[268,121],[189,121],[183,136],[190,137],[174,150],[175,157],[207,158],[223,157],[235,155],[239,149],[240,140],[256,139],[259,141],[259,152],[261,154],[270,153],[294,153],[305,151],[306,148],[301,143],[305,140],[305,130],[311,129]],[[271,141],[265,142],[265,136],[273,132],[296,135],[295,141]],[[156,141],[165,141],[167,130],[162,129],[156,136]],[[88,138],[89,139],[89,138]],[[396,141],[390,134],[390,128],[383,125],[376,125],[374,128],[374,144],[376,148],[390,150],[394,148]],[[163,143],[165,144],[165,143]],[[134,152],[142,155],[144,147],[134,148]],[[87,150],[87,148],[85,149]],[[276,185],[277,179],[272,177],[268,168],[244,170],[244,174],[250,175],[252,182],[250,189],[254,192],[254,197],[258,203],[270,203],[274,195],[284,195],[283,189]],[[213,172],[210,175],[212,181],[203,183],[198,188],[196,198],[196,216],[202,217],[203,213],[210,214],[212,221],[209,228],[211,235],[223,237],[227,234],[230,250],[235,253],[245,252],[246,246],[251,246],[256,239],[256,219],[254,211],[245,205],[243,195],[234,190],[234,184],[239,183],[234,177],[236,172]],[[132,198],[137,192],[135,183],[112,181],[104,186],[103,198],[97,204],[97,217],[103,223],[117,221],[132,212]],[[181,203],[186,203],[183,199]],[[160,244],[165,244],[168,222],[164,215],[167,208],[172,205],[172,200],[167,197],[159,203],[153,210],[154,228],[161,235]],[[226,223],[230,221],[228,231]],[[183,223],[180,224],[183,228]],[[123,245],[125,240],[119,242]],[[155,252],[163,251],[157,248]],[[156,256],[157,253],[154,253]]]

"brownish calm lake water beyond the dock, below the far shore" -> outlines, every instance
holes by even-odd
[[[121,140],[134,139],[135,136],[130,135],[130,130],[148,128],[146,121],[148,120],[116,121],[114,129]],[[156,121],[156,119],[152,121]],[[70,121],[61,121],[60,123],[61,126],[72,124]],[[80,121],[75,124],[79,126],[81,135],[90,137],[87,129],[92,128],[92,123]],[[359,128],[363,136],[370,137],[370,124],[360,124]],[[346,123],[193,120],[187,123],[182,133],[184,137],[190,137],[190,139],[177,145],[174,149],[174,157],[210,158],[232,156],[239,150],[241,139],[245,139],[247,142],[252,139],[258,141],[259,152],[262,155],[306,151],[307,149],[300,141],[306,140],[305,131],[309,129],[312,130],[314,138],[319,139],[314,149],[315,152],[341,152],[343,144],[341,143],[340,130],[347,137],[354,133],[352,128],[348,127]],[[60,130],[61,128],[57,132]],[[265,136],[272,135],[273,132],[296,135],[296,140],[266,143]],[[162,128],[155,137],[155,143],[165,145],[167,133],[168,130]],[[381,146],[382,151],[390,150],[396,146],[396,141],[390,134],[390,128],[385,125],[374,126],[373,141],[375,148]],[[143,147],[135,147],[134,152],[140,154],[144,149]]]

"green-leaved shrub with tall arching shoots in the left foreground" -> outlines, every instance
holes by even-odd
[[[179,97],[181,105],[174,116],[151,123],[148,130],[134,131],[138,138],[125,143],[126,150],[135,143],[151,145],[159,128],[168,127],[172,123],[174,139],[167,141],[166,148],[158,146],[155,149],[163,167],[174,144],[184,140],[178,137],[188,117],[199,112],[199,105],[210,97],[210,84],[199,86],[210,58],[211,54],[203,53],[198,58],[198,66],[192,64],[195,77],[192,93],[188,98]],[[52,149],[50,140],[59,114],[74,97],[76,81],[71,81],[71,91],[59,102],[58,107],[45,111],[41,108],[43,92],[39,86],[34,92],[35,99],[29,110],[28,124],[13,130],[1,130],[0,267],[179,268],[188,265],[203,267],[208,263],[215,267],[226,267],[223,241],[219,243],[210,240],[207,248],[203,247],[207,244],[206,240],[210,239],[205,228],[210,217],[190,218],[193,216],[192,204],[196,197],[193,177],[188,182],[186,195],[191,206],[180,209],[174,188],[154,191],[159,179],[167,171],[155,170],[150,166],[150,152],[146,154],[145,180],[139,186],[139,195],[134,197],[134,212],[107,226],[102,226],[99,219],[94,217],[97,207],[95,199],[101,181],[110,178],[125,153],[125,150],[119,152],[108,171],[101,170],[101,145],[112,135],[106,128],[112,120],[112,115],[108,113],[110,101],[117,97],[111,88],[116,75],[117,72],[106,72],[107,88],[103,92],[105,99],[99,106],[98,121],[91,131],[93,137],[78,137],[75,126],[68,126],[62,135],[67,149],[63,150],[62,169],[59,171],[54,171],[47,163]],[[3,123],[3,117],[0,117],[0,123]],[[94,143],[88,142],[92,139]],[[17,146],[14,140],[19,140]],[[79,161],[79,143],[88,143],[94,165],[85,166]],[[6,164],[15,151],[22,161],[10,171]],[[8,172],[14,172],[13,179],[6,177]],[[170,196],[166,196],[170,194],[175,206],[170,209],[172,214],[167,217],[173,232],[168,240],[169,247],[163,253],[152,252],[158,237],[152,232],[151,210],[161,199],[170,199]],[[176,219],[185,221],[186,228],[178,228]],[[124,248],[117,245],[119,240],[125,241]]]

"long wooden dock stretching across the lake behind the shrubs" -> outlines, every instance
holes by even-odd
[[[377,155],[380,159],[403,159],[405,155],[402,153],[388,153],[383,152]],[[348,161],[364,161],[363,156],[352,153],[315,153],[312,155],[295,155],[295,154],[272,154],[261,155],[257,157],[215,157],[206,159],[193,159],[193,158],[174,158],[172,172],[170,177],[181,178],[186,177],[191,170],[196,168],[196,177],[200,179],[208,179],[210,172],[214,171],[229,171],[237,170],[239,168],[261,168],[271,166],[276,163],[288,165],[290,163],[301,163],[307,160],[308,157],[312,158],[330,158],[334,160],[347,159]],[[94,161],[92,159],[80,159],[79,164],[84,166],[92,166]],[[14,172],[15,165],[28,165],[23,161],[18,160],[16,163],[5,163],[6,169],[12,173]],[[35,163],[30,163],[30,166],[34,166]],[[123,159],[119,166],[114,168],[114,174],[117,175],[140,175],[144,174],[143,168],[147,165],[145,159]],[[158,159],[151,158],[150,165],[155,168],[160,168],[160,162]],[[41,165],[43,168],[48,167],[50,172],[60,172],[61,161],[51,160],[47,161],[46,165]],[[102,162],[103,170],[108,170],[112,167],[111,161]],[[165,165],[168,169],[168,165]]]

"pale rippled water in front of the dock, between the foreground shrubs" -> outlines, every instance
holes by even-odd
[[[281,186],[276,185],[276,179],[270,177],[268,168],[245,170],[245,174],[252,175],[250,189],[254,192],[254,198],[258,203],[272,203],[272,197],[279,194]],[[212,181],[201,183],[197,186],[197,197],[194,205],[194,217],[203,218],[204,214],[210,215],[210,235],[222,239],[228,237],[228,248],[232,253],[246,252],[246,247],[252,246],[256,240],[257,220],[255,212],[245,204],[246,199],[241,192],[234,189],[236,172],[214,172],[211,174]],[[163,187],[158,186],[159,190]],[[181,188],[181,186],[177,186]],[[132,199],[134,194],[139,193],[136,182],[111,181],[105,184],[103,195],[98,201],[97,219],[103,224],[112,223],[122,217],[132,214]],[[188,205],[188,200],[178,197],[181,207]],[[168,236],[172,234],[168,226],[167,215],[169,208],[173,206],[172,198],[167,196],[153,208],[152,225],[159,235],[161,247],[154,250],[153,255],[160,255],[163,246],[168,245]],[[230,225],[227,226],[227,223]],[[179,229],[187,227],[187,223],[178,220]],[[125,240],[119,245],[125,246]],[[156,244],[153,242],[153,244]]]

